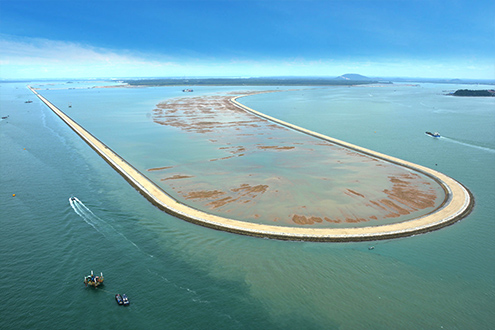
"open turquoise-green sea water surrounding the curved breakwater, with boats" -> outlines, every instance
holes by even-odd
[[[443,90],[465,86],[433,84],[241,99],[296,125],[433,167],[476,198],[470,216],[439,231],[329,244],[238,236],[171,217],[24,84],[0,86],[0,115],[9,115],[0,121],[0,328],[490,329],[495,323],[493,99],[448,97]],[[110,113],[87,115],[113,121],[86,128],[106,134],[102,140],[144,168],[155,166],[139,138],[153,129],[147,114],[182,96],[171,88],[114,89],[112,97],[107,90],[71,91],[82,99],[47,92],[50,100],[66,97],[60,104],[72,102],[74,112],[106,102]],[[112,108],[117,100],[119,115]],[[426,130],[445,137],[429,138]],[[122,131],[137,142],[119,143]],[[163,139],[177,145],[164,157],[186,157],[180,146],[187,134]],[[71,207],[71,195],[82,203]],[[90,270],[103,272],[101,289],[84,287]],[[117,292],[131,306],[118,306]]]

